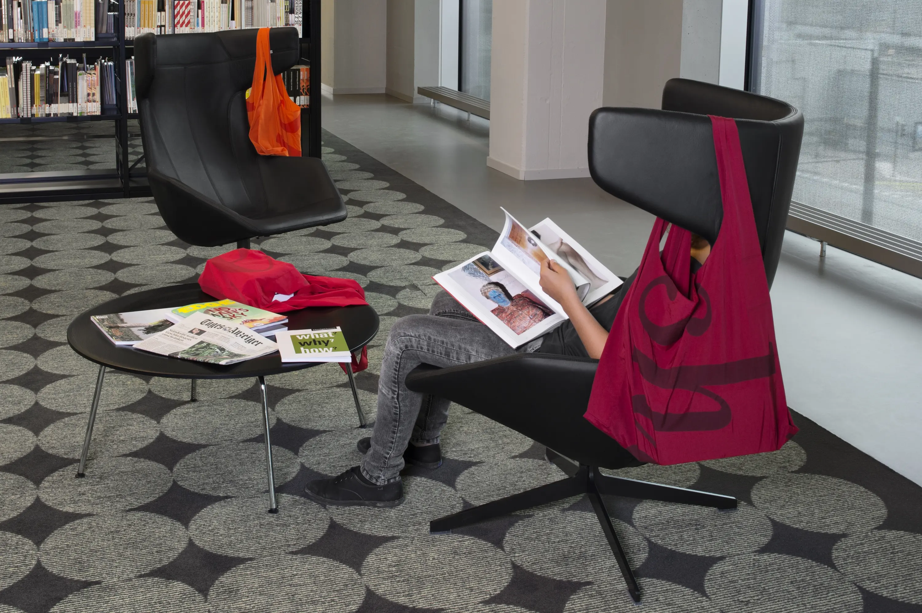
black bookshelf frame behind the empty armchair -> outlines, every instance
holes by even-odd
[[[293,1],[293,0],[292,0]],[[301,148],[303,155],[320,157],[320,6],[321,0],[303,0],[301,5],[301,60],[311,66],[310,105],[301,109]],[[0,2],[0,6],[2,2]],[[18,117],[0,119],[0,151],[7,143],[78,140],[79,135],[65,131],[55,135],[56,129],[42,128],[41,137],[6,133],[6,124],[48,124],[84,123],[108,121],[112,123],[112,138],[115,145],[115,159],[112,168],[84,168],[60,171],[0,172],[0,203],[14,202],[61,202],[69,200],[96,200],[108,198],[134,198],[150,195],[146,170],[141,164],[143,155],[131,159],[131,145],[140,145],[137,128],[137,114],[128,112],[128,81],[125,61],[134,56],[134,40],[124,36],[125,3],[117,5],[110,0],[114,13],[115,34],[107,40],[84,41],[42,41],[42,42],[0,42],[0,65],[6,65],[6,57],[15,56],[37,63],[56,61],[59,55],[68,55],[83,62],[95,62],[97,58],[112,60],[114,68],[115,98],[113,108],[102,108],[99,115],[65,115],[52,117]],[[312,44],[313,41],[313,44]],[[38,128],[38,125],[36,125]],[[65,133],[67,132],[67,133]],[[92,138],[106,138],[95,133]],[[87,136],[86,138],[90,138]],[[0,158],[3,154],[0,153]],[[94,164],[100,166],[100,164]]]

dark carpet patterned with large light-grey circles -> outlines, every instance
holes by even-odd
[[[365,286],[383,328],[357,376],[372,414],[387,329],[428,307],[433,272],[496,235],[331,134],[325,160],[349,218],[261,248]],[[619,471],[741,501],[609,500],[639,609],[585,498],[428,535],[433,517],[563,477],[540,445],[460,407],[443,467],[409,468],[396,509],[302,497],[360,461],[366,431],[335,365],[269,381],[278,515],[251,380],[202,382],[189,403],[188,382],[107,376],[76,480],[96,367],[66,326],[115,295],[194,280],[222,249],[183,244],[149,200],[5,206],[0,222],[0,613],[922,611],[922,489],[800,416],[774,454]]]

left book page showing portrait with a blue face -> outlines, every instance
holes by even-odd
[[[565,319],[489,252],[432,278],[512,347],[538,338]]]

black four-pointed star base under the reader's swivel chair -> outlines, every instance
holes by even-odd
[[[515,511],[524,511],[540,504],[553,503],[571,496],[588,494],[592,508],[596,511],[598,523],[602,526],[605,537],[609,539],[611,552],[615,555],[615,560],[618,561],[618,567],[624,576],[624,583],[627,584],[628,592],[634,602],[640,602],[640,587],[637,585],[631,565],[624,555],[624,549],[621,547],[618,535],[615,534],[614,526],[611,525],[611,518],[605,508],[605,502],[602,500],[601,494],[626,496],[641,500],[658,500],[666,503],[696,504],[716,509],[737,508],[737,499],[732,496],[686,490],[671,485],[648,483],[622,477],[609,477],[601,474],[596,467],[582,464],[577,466],[550,449],[548,449],[547,456],[551,462],[560,467],[569,477],[492,503],[480,504],[472,509],[467,509],[467,511],[433,519],[429,523],[429,531],[432,534],[447,533],[451,532],[453,528],[470,526],[494,517],[509,515]]]

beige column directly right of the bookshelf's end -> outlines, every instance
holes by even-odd
[[[329,94],[382,94],[387,0],[323,0],[321,78]]]

